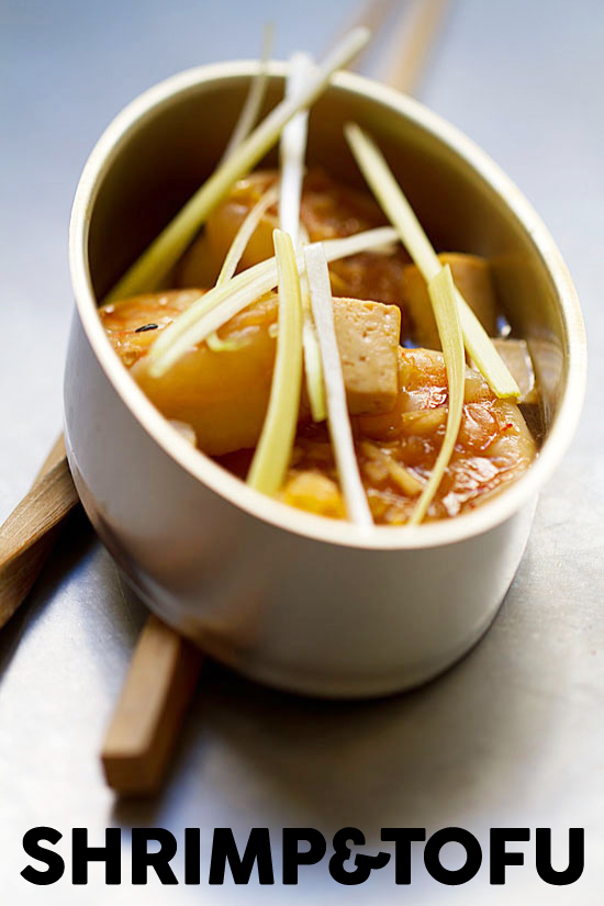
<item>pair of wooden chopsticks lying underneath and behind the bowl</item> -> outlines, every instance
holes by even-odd
[[[382,81],[407,93],[415,89],[447,2],[371,0],[362,5],[354,24],[367,25],[374,35],[399,11],[379,75]],[[0,527],[0,628],[27,596],[60,523],[77,503],[59,438],[31,491]],[[158,790],[202,661],[191,642],[157,617],[148,618],[102,748],[107,781],[116,792],[148,795]]]

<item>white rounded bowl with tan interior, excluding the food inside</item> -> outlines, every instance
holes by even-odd
[[[540,455],[469,515],[362,534],[270,500],[192,449],[119,361],[97,300],[211,172],[255,71],[254,63],[227,63],[168,79],[114,120],[86,165],[70,230],[69,462],[130,582],[213,657],[295,692],[391,693],[451,664],[493,619],[538,490],[577,425],[583,323],[552,239],[502,171],[416,101],[342,74],[312,110],[310,164],[362,184],[342,133],[356,120],[387,153],[434,242],[491,259],[538,372]],[[267,107],[281,97],[284,71],[272,65]]]

